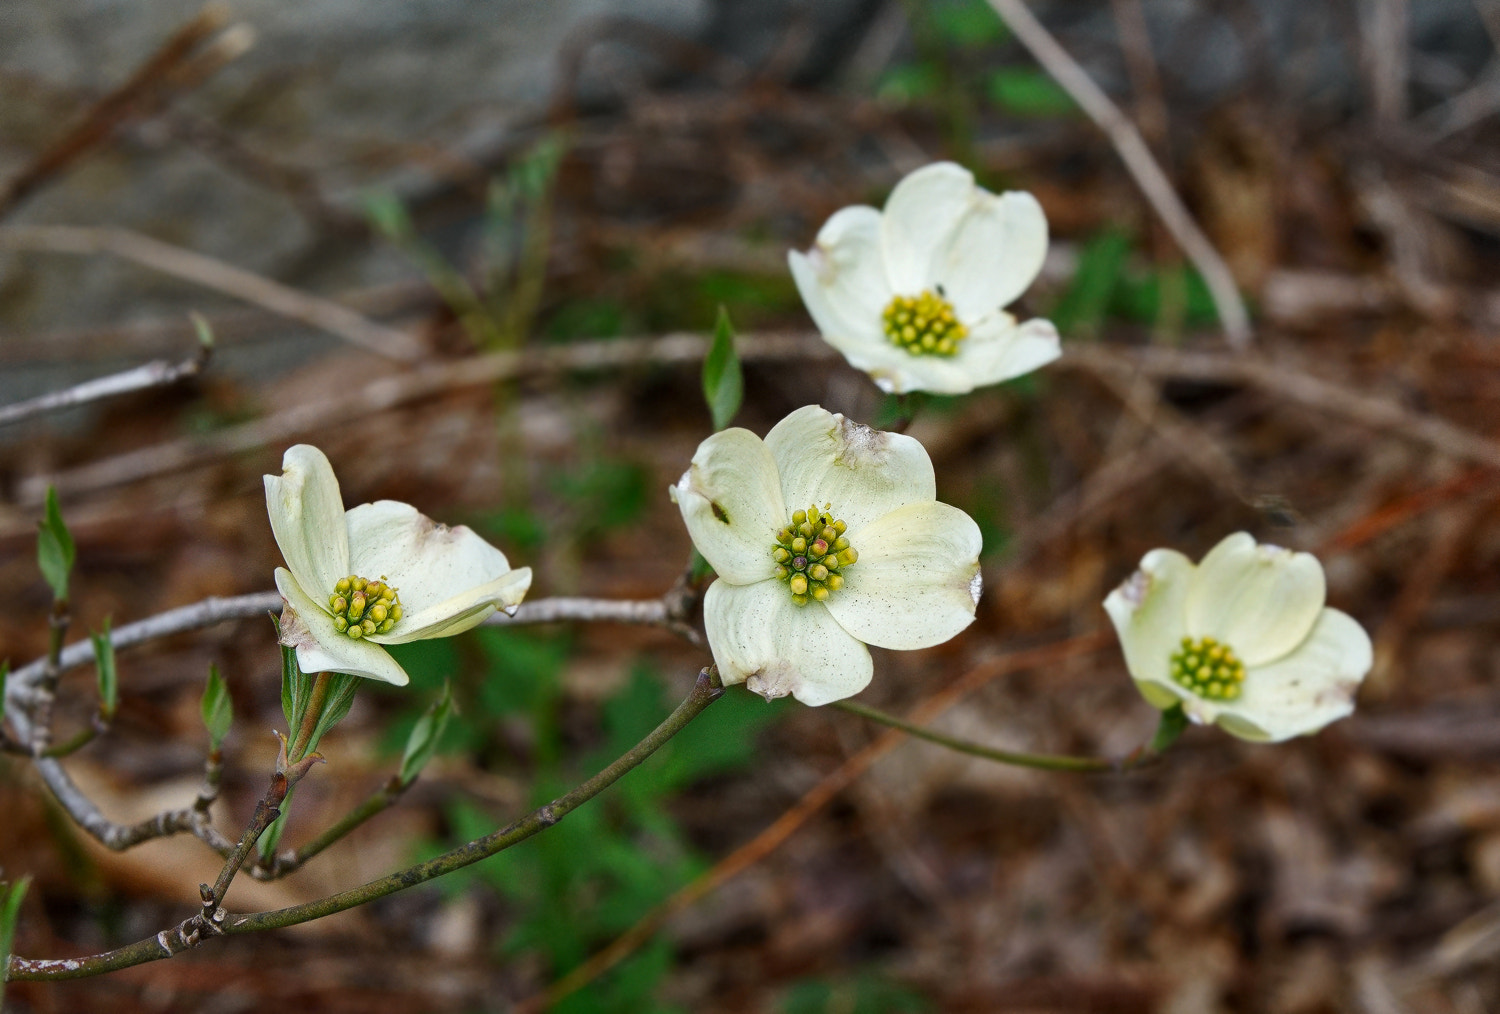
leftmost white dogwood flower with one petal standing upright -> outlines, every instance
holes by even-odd
[[[514,612],[531,568],[459,525],[411,504],[380,500],[344,510],[339,480],[321,450],[297,444],[282,474],[266,476],[266,510],[286,567],[280,640],[303,672],[346,672],[406,684],[381,645],[450,638],[496,609]]]

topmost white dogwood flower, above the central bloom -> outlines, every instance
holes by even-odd
[[[952,162],[885,202],[846,207],[788,255],[824,339],[882,390],[963,394],[1050,363],[1052,321],[1005,312],[1041,270],[1047,218],[1030,194],[990,194]]]

